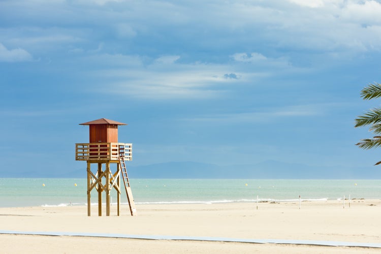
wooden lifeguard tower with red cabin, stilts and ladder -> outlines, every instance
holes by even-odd
[[[110,192],[117,192],[117,215],[120,215],[120,177],[123,178],[125,193],[130,206],[131,215],[136,208],[131,186],[125,167],[125,161],[132,161],[132,144],[118,142],[118,125],[122,122],[101,118],[80,123],[89,125],[89,143],[75,144],[75,160],[87,161],[87,215],[90,216],[91,190],[98,192],[98,215],[102,216],[102,192],[106,193],[106,216],[110,216]],[[112,172],[110,164],[117,164]],[[97,170],[91,170],[91,164],[97,164]],[[105,167],[102,167],[105,164]]]

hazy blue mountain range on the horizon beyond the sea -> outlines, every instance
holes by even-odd
[[[381,167],[316,167],[297,163],[264,161],[252,165],[218,166],[198,162],[168,162],[145,166],[126,164],[131,178],[220,179],[381,179]],[[20,174],[21,173],[21,174]],[[86,168],[73,170],[5,171],[0,177],[86,178]]]

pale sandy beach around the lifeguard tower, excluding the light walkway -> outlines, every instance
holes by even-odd
[[[0,230],[381,243],[381,200],[0,208]],[[320,253],[381,248],[0,234],[2,253]]]

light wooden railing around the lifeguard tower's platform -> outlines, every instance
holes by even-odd
[[[76,161],[132,161],[132,144],[126,143],[80,143],[75,144]]]

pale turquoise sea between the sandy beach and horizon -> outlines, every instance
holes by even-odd
[[[131,179],[130,184],[135,204],[381,199],[381,180]],[[97,195],[92,190],[91,204],[97,204]],[[116,190],[110,201],[116,205]],[[121,203],[127,202],[122,188]],[[85,178],[0,178],[0,207],[86,205]]]

